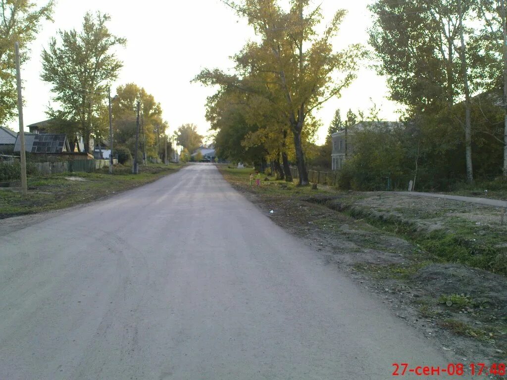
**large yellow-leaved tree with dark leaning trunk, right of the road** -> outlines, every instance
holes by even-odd
[[[249,43],[238,54],[237,72],[253,77],[268,72],[268,99],[273,93],[284,99],[280,109],[288,129],[293,134],[299,184],[307,185],[303,136],[305,124],[312,111],[332,97],[339,96],[355,78],[361,48],[352,45],[335,52],[332,39],[337,35],[345,17],[338,11],[331,23],[319,34],[316,26],[322,21],[320,8],[310,9],[309,0],[291,0],[284,11],[277,0],[243,0],[239,4],[226,3],[238,15],[246,17],[260,36],[259,43]],[[237,76],[220,70],[204,70],[196,78],[207,85],[237,84]],[[241,88],[241,86],[238,86]],[[251,88],[245,91],[252,91]]]

